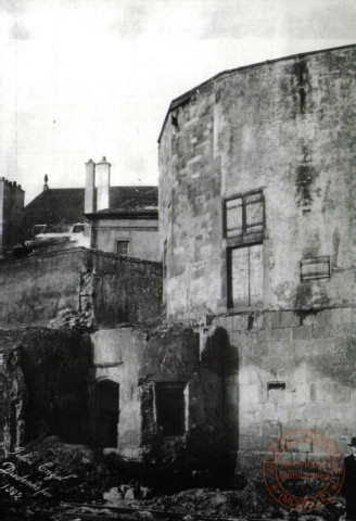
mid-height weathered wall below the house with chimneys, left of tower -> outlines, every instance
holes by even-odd
[[[0,265],[0,327],[46,326],[64,309],[89,326],[160,316],[161,266],[73,249]]]

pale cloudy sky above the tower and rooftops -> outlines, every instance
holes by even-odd
[[[157,183],[169,102],[220,71],[355,42],[355,0],[0,0],[0,176],[29,202]]]

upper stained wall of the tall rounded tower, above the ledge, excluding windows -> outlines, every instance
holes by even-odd
[[[160,223],[169,319],[226,313],[221,201],[263,190],[263,306],[348,306],[355,48],[223,74],[176,103],[160,144]],[[174,123],[171,123],[174,122]],[[302,258],[330,257],[301,282]]]

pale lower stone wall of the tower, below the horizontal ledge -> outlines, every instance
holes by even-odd
[[[355,309],[220,316],[238,370],[226,379],[230,447],[260,465],[280,435],[325,433],[347,453],[356,424]],[[269,389],[274,383],[285,389]],[[317,448],[315,448],[317,450]]]

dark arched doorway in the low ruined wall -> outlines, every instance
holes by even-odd
[[[113,380],[96,383],[96,445],[117,447],[119,385]]]

